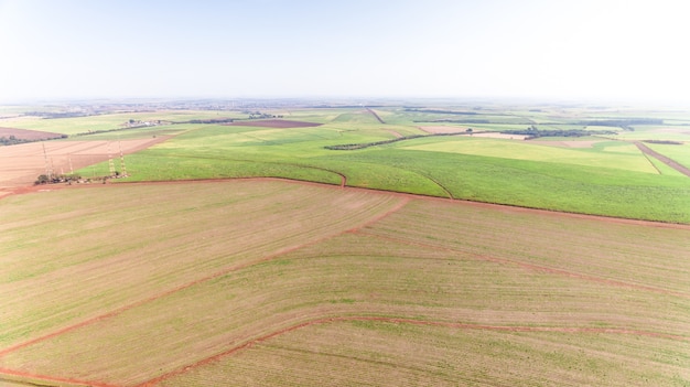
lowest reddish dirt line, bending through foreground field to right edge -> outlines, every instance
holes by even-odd
[[[441,326],[441,327],[450,327],[450,329],[459,329],[459,330],[477,330],[477,331],[496,331],[496,332],[553,332],[553,333],[599,333],[599,334],[627,334],[627,335],[637,335],[637,336],[647,336],[647,337],[660,337],[668,340],[677,340],[690,342],[690,337],[666,334],[666,333],[657,333],[642,330],[630,330],[625,327],[587,327],[587,326],[529,326],[529,325],[488,325],[488,324],[471,324],[471,323],[459,323],[459,322],[450,322],[450,321],[433,321],[433,320],[416,320],[416,319],[406,319],[406,318],[386,318],[386,316],[375,316],[375,315],[344,315],[344,316],[328,316],[328,318],[319,318],[310,321],[301,322],[288,327],[280,329],[278,331],[273,331],[271,333],[267,333],[262,336],[249,340],[240,345],[234,346],[224,352],[217,353],[209,357],[202,358],[194,363],[187,364],[180,368],[173,369],[166,374],[162,374],[147,380],[142,384],[136,385],[136,387],[152,387],[158,385],[159,383],[170,379],[173,376],[185,374],[186,372],[198,368],[201,366],[211,364],[213,362],[217,362],[223,357],[227,357],[234,355],[242,350],[251,348],[254,345],[266,342],[273,337],[283,335],[285,333],[290,333],[297,331],[302,327],[319,325],[319,324],[328,324],[336,322],[353,322],[353,321],[367,321],[367,322],[380,322],[380,323],[396,323],[396,324],[411,324],[411,325],[427,325],[427,326]]]

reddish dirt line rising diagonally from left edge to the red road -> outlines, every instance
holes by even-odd
[[[281,256],[285,255],[285,254],[289,254],[289,252],[292,252],[292,251],[297,251],[299,249],[320,244],[320,243],[322,243],[324,240],[328,240],[331,238],[335,238],[337,236],[341,236],[341,235],[344,235],[344,234],[347,234],[347,233],[353,233],[353,232],[355,232],[355,230],[357,230],[357,229],[359,229],[362,227],[366,227],[366,226],[368,226],[370,224],[379,222],[380,219],[385,218],[386,216],[389,216],[390,214],[399,211],[409,201],[410,201],[409,198],[400,198],[398,201],[398,203],[392,208],[390,208],[390,209],[388,209],[388,211],[386,211],[386,212],[384,212],[381,214],[378,214],[378,215],[376,215],[376,216],[374,216],[374,217],[371,217],[369,219],[366,219],[365,222],[363,222],[358,226],[351,227],[351,228],[347,228],[347,229],[344,229],[344,230],[341,230],[341,232],[336,232],[336,233],[333,233],[333,234],[328,234],[328,235],[325,235],[325,236],[323,236],[321,238],[316,238],[314,240],[309,240],[309,241],[299,244],[297,246],[282,248],[282,249],[280,249],[280,250],[278,250],[278,251],[276,251],[273,254],[270,254],[268,256],[263,256],[263,257],[261,257],[259,259],[255,259],[255,260],[247,261],[247,262],[244,262],[244,264],[238,264],[238,265],[233,265],[230,267],[226,267],[226,268],[224,268],[222,270],[218,270],[218,271],[216,271],[214,273],[211,273],[208,276],[195,279],[195,280],[186,282],[186,283],[182,283],[182,284],[180,284],[177,287],[174,287],[172,289],[162,291],[162,292],[160,292],[158,294],[153,294],[153,295],[148,297],[148,298],[145,298],[143,300],[139,300],[139,301],[132,302],[130,304],[122,305],[122,307],[117,308],[117,309],[115,309],[115,310],[112,310],[110,312],[107,312],[107,313],[104,313],[104,314],[99,314],[99,315],[93,316],[90,319],[84,320],[82,322],[78,322],[76,324],[62,327],[62,329],[60,329],[57,331],[54,331],[52,333],[47,333],[47,334],[42,335],[40,337],[35,337],[35,338],[29,340],[29,341],[23,342],[23,343],[11,345],[11,346],[9,346],[9,347],[7,347],[4,350],[0,350],[0,358],[2,356],[6,356],[6,355],[8,355],[8,354],[10,354],[12,352],[19,351],[19,350],[24,348],[26,346],[33,345],[33,344],[39,343],[39,342],[43,342],[45,340],[50,340],[50,338],[56,337],[56,336],[58,336],[61,334],[64,334],[64,333],[77,330],[77,329],[86,326],[86,325],[90,325],[90,324],[97,323],[97,322],[103,321],[103,320],[107,320],[107,319],[114,318],[116,315],[119,315],[119,314],[128,311],[128,310],[141,307],[141,305],[150,303],[150,302],[153,302],[155,300],[159,300],[161,298],[171,295],[173,293],[176,293],[176,292],[182,291],[184,289],[194,287],[196,284],[214,280],[216,278],[223,277],[223,276],[228,275],[230,272],[242,270],[242,269],[246,269],[246,268],[255,266],[255,265],[259,265],[259,264],[263,264],[263,262],[273,260],[273,259],[276,259],[278,257],[281,257]]]

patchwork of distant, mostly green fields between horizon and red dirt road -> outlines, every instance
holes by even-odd
[[[69,141],[79,135],[80,141],[106,146],[86,155],[46,142],[45,153],[21,159],[7,149],[20,146],[2,147],[0,195],[50,170],[75,170],[103,181],[114,173],[108,159],[115,159],[115,172],[121,172],[119,143],[148,139],[155,146],[126,157],[128,181],[283,178],[690,224],[690,180],[635,146],[644,141],[688,165],[690,119],[683,111],[281,104],[260,111],[233,105],[218,111],[115,110],[58,118],[48,118],[55,111],[34,114],[8,115],[0,126],[66,133]]]

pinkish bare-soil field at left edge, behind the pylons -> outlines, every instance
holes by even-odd
[[[165,141],[169,137],[116,141],[48,141],[0,147],[0,197],[14,190],[32,185],[36,178],[45,173],[48,165],[54,173],[69,173],[94,163],[108,160],[108,155],[123,154],[147,149]],[[43,153],[45,147],[45,154]]]

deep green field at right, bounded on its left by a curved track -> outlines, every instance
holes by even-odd
[[[335,159],[344,164],[362,163],[370,174],[376,174],[371,171],[375,165],[417,172],[440,182],[455,198],[690,223],[690,180],[681,176],[399,149],[347,153]],[[390,183],[385,190],[407,191],[396,184],[393,176],[385,181]]]

